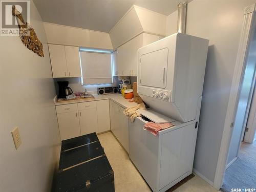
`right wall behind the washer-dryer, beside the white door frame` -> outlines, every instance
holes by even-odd
[[[194,0],[187,6],[186,32],[209,39],[194,168],[214,181],[229,92],[240,40],[243,10],[255,0]],[[177,11],[166,34],[177,29]]]

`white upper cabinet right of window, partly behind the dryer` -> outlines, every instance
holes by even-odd
[[[141,33],[117,49],[118,76],[137,76],[138,49],[159,40],[158,35]]]

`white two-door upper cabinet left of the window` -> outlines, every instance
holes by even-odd
[[[52,44],[48,46],[54,78],[81,77],[78,47]]]

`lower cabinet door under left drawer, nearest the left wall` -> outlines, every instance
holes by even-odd
[[[59,123],[59,133],[61,140],[78,137],[81,135],[78,112],[57,114]]]

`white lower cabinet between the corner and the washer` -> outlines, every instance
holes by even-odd
[[[110,101],[111,131],[129,153],[129,118],[123,113],[125,109]]]

